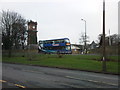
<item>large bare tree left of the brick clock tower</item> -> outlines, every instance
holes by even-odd
[[[11,57],[11,49],[14,45],[16,48],[25,40],[26,20],[17,12],[2,11],[0,28],[2,30],[3,48],[9,51]]]

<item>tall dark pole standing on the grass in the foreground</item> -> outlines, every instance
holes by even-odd
[[[102,58],[102,71],[106,72],[106,51],[105,51],[105,0],[103,0],[103,58]]]

